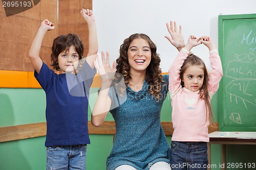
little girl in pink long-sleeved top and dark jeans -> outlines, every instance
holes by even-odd
[[[202,59],[189,55],[194,46],[209,48],[212,70],[207,72]],[[172,99],[172,136],[170,163],[175,169],[207,169],[208,126],[212,120],[210,99],[218,90],[222,65],[212,39],[191,35],[169,68]]]

